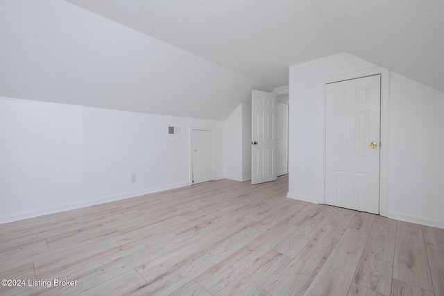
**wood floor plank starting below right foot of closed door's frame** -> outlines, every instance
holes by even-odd
[[[395,256],[396,225],[375,222],[353,282],[390,295]]]

